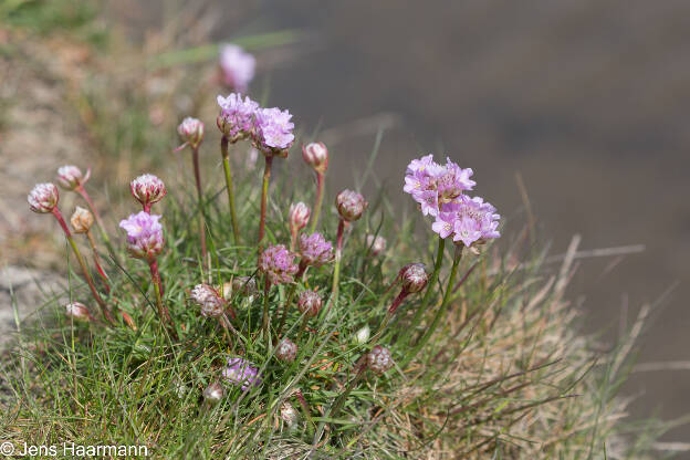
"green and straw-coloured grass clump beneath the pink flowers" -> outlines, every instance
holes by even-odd
[[[304,172],[301,166],[274,175],[266,243],[288,243],[290,203],[312,202],[313,187],[302,180]],[[238,335],[230,339],[189,301],[190,289],[201,282],[220,288],[237,276],[255,276],[261,285],[255,265],[260,171],[237,178],[240,244],[232,243],[224,190],[218,186],[221,175],[206,175],[206,184],[212,186],[206,188],[201,207],[190,174],[161,175],[170,192],[154,212],[164,216],[166,249],[159,266],[164,302],[178,337],[158,321],[146,264],[123,251],[123,265],[111,260],[107,302],[128,313],[136,330],[124,322],[114,327],[74,322],[64,316],[63,302],[50,299],[42,314],[20,325],[2,359],[3,440],[144,445],[154,458],[166,459],[642,454],[651,431],[645,427],[645,436],[628,443],[623,436],[627,428],[619,422],[624,405],[615,398],[627,356],[614,352],[595,359],[564,300],[572,257],[566,255],[555,272],[544,264],[544,253],[526,249],[524,233],[482,255],[466,255],[462,282],[450,293],[448,313],[421,353],[384,376],[366,374],[331,418],[330,407],[353,377],[355,363],[375,345],[358,344],[355,335],[366,325],[376,331],[384,320],[396,294],[389,286],[398,270],[409,262],[433,265],[436,240],[428,222],[420,229],[417,212],[411,218],[391,212],[383,191],[369,199],[365,217],[346,237],[337,302],[310,322],[312,331],[297,343],[297,358],[286,364],[275,359],[274,348],[258,334],[261,293],[231,295]],[[200,260],[199,209],[208,228],[210,271]],[[332,205],[324,208],[320,227],[334,241],[337,215]],[[367,233],[388,239],[385,254],[370,253]],[[445,253],[440,282],[429,286],[433,295],[421,322],[411,323],[421,301],[417,294],[398,310],[379,341],[398,363],[439,307],[451,252]],[[332,276],[332,265],[311,269],[307,285],[299,289],[317,289],[327,296]],[[70,278],[69,288],[65,296],[88,303],[88,292],[76,276]],[[273,326],[286,291],[271,291]],[[293,306],[285,336],[295,341],[300,323]],[[630,348],[623,343],[617,349]],[[260,368],[260,386],[242,391],[223,381],[224,363],[236,356]],[[202,391],[213,381],[221,381],[226,394],[219,404],[209,405]],[[321,437],[315,436],[320,427]]]

